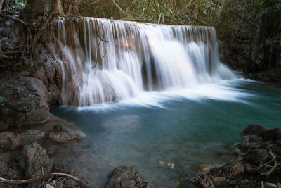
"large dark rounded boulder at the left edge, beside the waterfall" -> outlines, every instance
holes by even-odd
[[[0,127],[44,123],[48,97],[44,83],[34,77],[7,74],[0,79]]]

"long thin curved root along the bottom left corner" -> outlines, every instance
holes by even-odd
[[[30,182],[35,182],[37,180],[44,179],[46,177],[53,177],[55,175],[70,177],[72,180],[78,182],[81,185],[81,187],[93,188],[93,186],[87,184],[86,182],[83,182],[83,181],[79,180],[77,177],[74,177],[72,175],[65,174],[65,173],[50,173],[50,174],[46,174],[46,175],[39,175],[39,176],[32,177],[32,178],[27,179],[27,180],[8,180],[8,179],[5,179],[3,177],[0,177],[0,182],[5,182],[5,183],[8,183],[8,184],[27,184],[27,183],[30,183]]]

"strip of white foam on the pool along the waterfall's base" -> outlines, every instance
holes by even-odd
[[[204,99],[213,99],[217,101],[233,101],[249,104],[247,99],[253,99],[254,94],[245,92],[235,86],[240,82],[253,82],[252,80],[225,80],[219,84],[200,84],[198,86],[181,89],[181,90],[165,90],[155,92],[139,92],[135,97],[113,101],[104,104],[95,104],[92,106],[79,106],[76,111],[117,111],[131,106],[139,106],[145,108],[166,108],[167,101],[204,101]],[[252,105],[252,104],[249,104]]]

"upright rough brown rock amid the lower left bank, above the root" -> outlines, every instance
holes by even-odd
[[[51,173],[53,161],[48,158],[46,149],[33,142],[23,147],[20,166],[24,169],[26,177],[34,177],[42,173]]]

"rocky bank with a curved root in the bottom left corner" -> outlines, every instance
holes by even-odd
[[[63,137],[54,139],[53,132]],[[84,137],[83,132],[63,124],[54,125],[48,134],[39,130],[0,132],[0,187],[93,187],[70,175],[74,173],[71,165],[54,161],[43,147],[48,140],[67,143]]]

